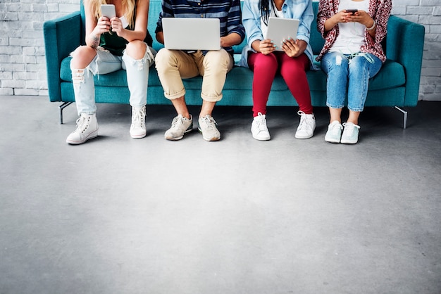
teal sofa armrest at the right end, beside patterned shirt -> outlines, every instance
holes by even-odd
[[[387,23],[386,56],[404,66],[404,106],[416,106],[423,63],[424,26],[390,15]]]

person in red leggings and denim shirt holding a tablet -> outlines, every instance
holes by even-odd
[[[268,18],[296,18],[300,20],[295,39],[288,38],[282,51],[276,51],[276,44],[265,39]],[[316,129],[316,120],[311,105],[306,70],[313,67],[313,53],[309,45],[309,32],[313,21],[312,1],[292,0],[245,0],[242,8],[242,23],[247,32],[248,45],[242,51],[240,65],[254,71],[253,77],[253,122],[251,134],[254,139],[271,139],[266,127],[266,103],[274,77],[280,72],[299,104],[300,124],[295,137],[308,139]]]

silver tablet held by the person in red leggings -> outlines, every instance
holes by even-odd
[[[282,51],[282,41],[284,39],[297,39],[297,30],[299,29],[299,20],[293,18],[274,18],[268,20],[268,30],[265,39],[273,40],[278,51]]]

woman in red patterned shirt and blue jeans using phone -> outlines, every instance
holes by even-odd
[[[369,79],[386,60],[381,41],[387,33],[391,9],[391,0],[320,0],[317,27],[325,45],[316,59],[321,60],[321,68],[328,74],[326,105],[330,124],[325,141],[354,144],[359,140],[359,116]],[[342,124],[346,91],[349,117]]]

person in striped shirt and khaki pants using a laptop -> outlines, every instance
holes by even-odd
[[[194,4],[194,5],[192,5]],[[180,51],[161,49],[155,58],[164,95],[170,99],[178,114],[164,137],[180,140],[193,129],[193,117],[185,103],[185,88],[182,78],[202,75],[202,106],[199,113],[199,132],[206,141],[218,141],[221,133],[212,117],[213,108],[222,98],[227,73],[234,60],[232,46],[242,43],[245,37],[242,26],[239,0],[163,0],[156,27],[156,39],[163,44],[163,18],[219,18],[221,20],[221,47],[211,51]],[[203,38],[204,36],[201,36]]]

